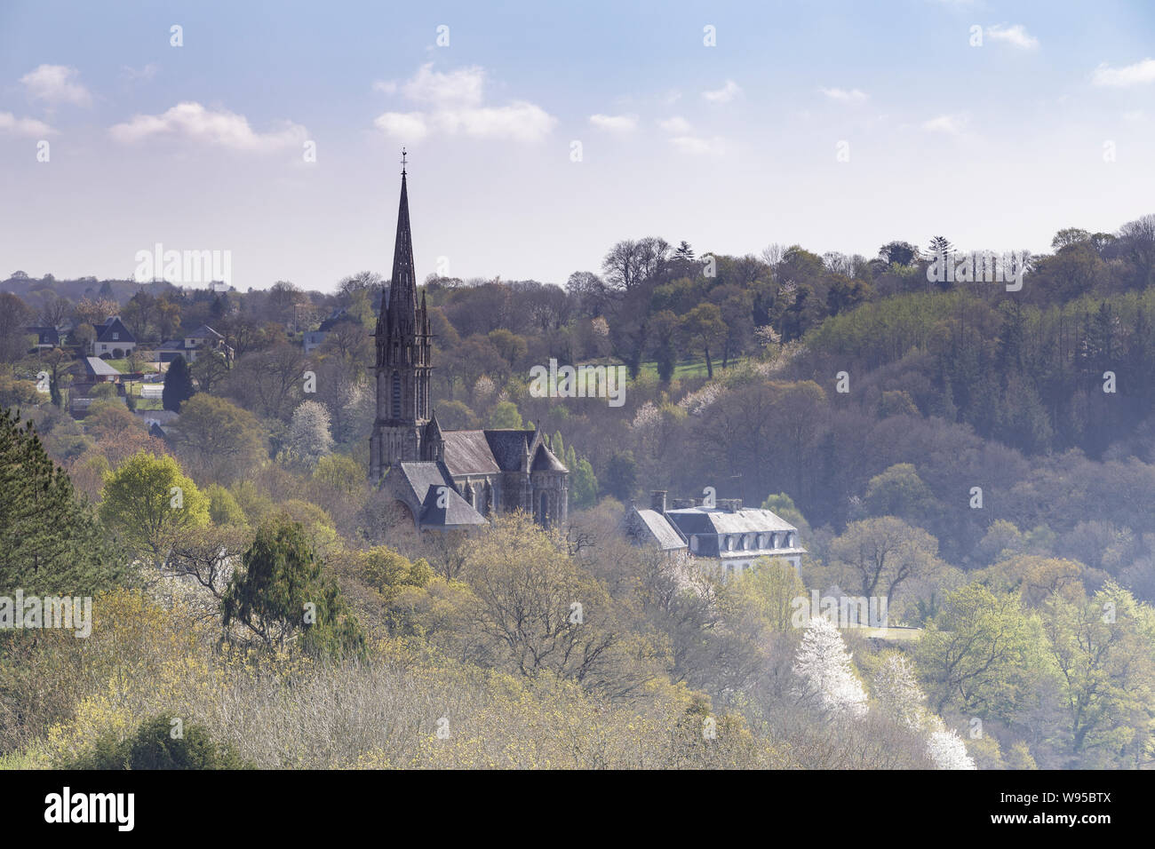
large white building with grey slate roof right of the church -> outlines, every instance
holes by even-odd
[[[798,529],[775,513],[744,508],[737,498],[714,505],[676,501],[666,509],[665,496],[656,490],[649,509],[629,508],[624,527],[632,542],[663,551],[685,546],[692,557],[711,561],[713,571],[722,576],[740,575],[763,557],[800,569],[806,549]]]

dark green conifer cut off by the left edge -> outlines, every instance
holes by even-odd
[[[0,586],[25,594],[94,595],[127,571],[31,423],[0,410]]]

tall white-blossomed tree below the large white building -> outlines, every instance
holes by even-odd
[[[824,617],[812,618],[791,671],[798,679],[795,694],[832,717],[866,715],[866,691],[855,676],[850,653],[839,630]]]

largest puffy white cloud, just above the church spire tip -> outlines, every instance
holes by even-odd
[[[404,83],[377,82],[373,88],[386,94],[400,91],[424,107],[413,112],[386,112],[373,121],[378,129],[402,140],[413,141],[440,132],[536,142],[549,135],[558,122],[541,106],[527,100],[513,100],[505,106],[483,105],[485,69],[477,66],[441,73],[427,62]]]

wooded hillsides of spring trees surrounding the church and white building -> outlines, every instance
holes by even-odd
[[[95,619],[0,628],[0,766],[152,768],[180,721],[165,757],[199,768],[1149,768],[1155,215],[1059,231],[1019,291],[933,280],[954,250],[647,237],[562,285],[431,275],[441,425],[536,427],[569,470],[565,527],[470,536],[385,521],[366,481],[379,274],[14,273],[0,594]],[[135,348],[92,385],[114,315]],[[221,344],[147,396],[201,326]],[[551,360],[624,365],[623,403],[530,392]],[[797,527],[800,574],[624,537],[705,487]],[[903,634],[799,627],[812,591]]]

